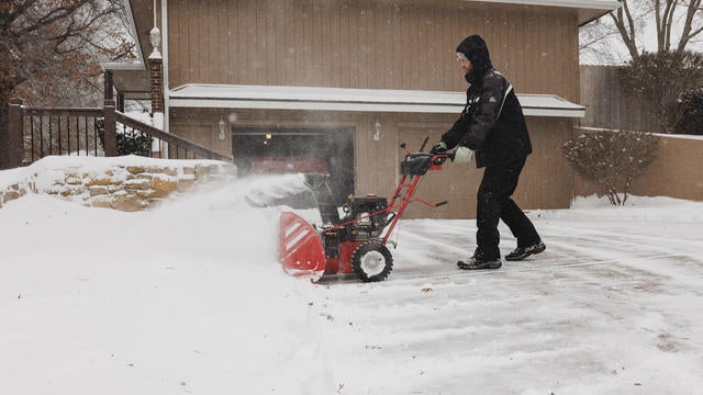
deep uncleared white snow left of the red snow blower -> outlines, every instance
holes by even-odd
[[[138,215],[46,195],[8,203],[0,370],[12,374],[1,386],[322,393],[308,336],[324,318],[309,284],[280,270],[277,211],[249,210],[243,184]]]

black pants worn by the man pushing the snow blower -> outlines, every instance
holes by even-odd
[[[483,179],[478,192],[476,253],[483,259],[498,259],[500,234],[498,219],[502,219],[517,238],[517,247],[537,244],[539,235],[525,213],[510,196],[515,192],[517,179],[525,166],[522,158],[510,163],[489,166],[483,171]]]

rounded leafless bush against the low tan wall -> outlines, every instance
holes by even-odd
[[[623,205],[633,181],[655,160],[658,144],[649,133],[596,132],[566,142],[562,149],[580,176],[604,189],[611,204]]]

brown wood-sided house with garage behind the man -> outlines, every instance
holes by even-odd
[[[330,172],[339,196],[389,196],[406,143],[436,142],[467,84],[456,46],[483,36],[533,139],[515,200],[568,207],[561,154],[578,103],[579,26],[616,0],[125,0],[141,63],[105,65],[120,97],[163,100],[164,128],[233,156],[243,174]],[[157,27],[160,42],[150,45]],[[156,37],[158,38],[158,37]],[[147,65],[148,54],[156,63]],[[152,56],[154,57],[154,56]],[[161,63],[163,61],[163,66]],[[149,72],[150,69],[150,72]],[[157,87],[155,89],[155,87]],[[161,99],[163,95],[163,99]],[[482,170],[448,163],[411,217],[472,217]],[[341,198],[342,199],[342,198]]]

